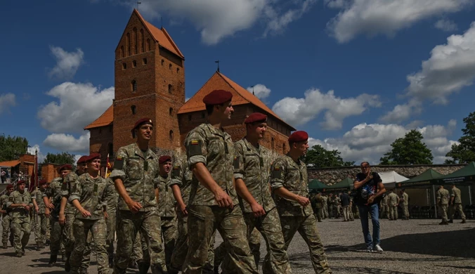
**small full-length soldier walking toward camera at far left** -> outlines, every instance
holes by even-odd
[[[32,197],[25,191],[25,181],[18,181],[18,190],[8,197],[7,207],[11,210],[11,229],[13,230],[13,246],[17,257],[25,255],[25,246],[30,240],[32,230],[30,223],[30,209],[33,207]],[[23,237],[21,237],[23,233]]]

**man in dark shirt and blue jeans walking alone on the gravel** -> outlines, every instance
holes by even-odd
[[[371,172],[368,162],[361,163],[361,173],[356,174],[356,180],[353,183],[356,190],[355,203],[360,212],[361,227],[365,237],[367,252],[383,252],[379,245],[379,198],[386,192],[381,177],[376,172]],[[368,214],[371,215],[372,237],[368,223]]]

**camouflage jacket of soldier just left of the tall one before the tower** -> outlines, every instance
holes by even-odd
[[[67,198],[72,203],[78,200],[81,206],[91,213],[91,216],[84,218],[79,210],[76,218],[88,220],[100,220],[104,218],[103,206],[107,206],[109,195],[112,195],[111,185],[108,180],[98,176],[92,178],[88,173],[82,174],[71,184],[71,195]]]

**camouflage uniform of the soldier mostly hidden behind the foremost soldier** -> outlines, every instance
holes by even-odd
[[[181,191],[181,199],[183,203],[188,205],[191,190],[191,180],[193,174],[188,169],[188,162],[186,155],[183,155],[174,162],[171,170],[171,185],[178,185]],[[175,249],[171,254],[171,270],[181,270],[185,262],[186,253],[188,252],[188,216],[183,216],[178,210],[178,237],[176,239]],[[214,237],[212,237],[214,239]],[[213,241],[214,242],[214,241]],[[208,261],[203,267],[203,273],[212,273],[214,265],[214,243],[209,244]]]

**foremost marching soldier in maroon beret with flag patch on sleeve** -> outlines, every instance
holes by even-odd
[[[234,187],[235,149],[221,124],[233,114],[229,91],[215,90],[204,96],[208,122],[191,130],[185,145],[193,171],[188,204],[189,249],[183,273],[202,273],[209,242],[216,228],[230,254],[230,268],[238,273],[258,273],[247,241],[246,223]]]

